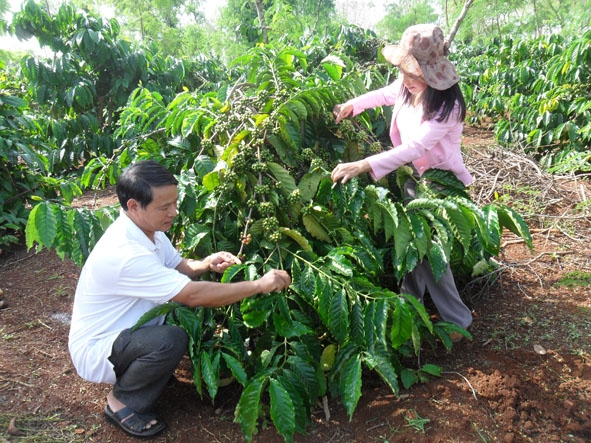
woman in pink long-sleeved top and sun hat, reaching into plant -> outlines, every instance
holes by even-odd
[[[336,122],[360,114],[366,109],[394,105],[390,126],[393,149],[363,160],[341,163],[332,171],[334,182],[346,183],[363,172],[379,180],[400,166],[409,165],[420,177],[427,169],[453,172],[464,185],[472,176],[464,165],[461,134],[466,103],[458,86],[454,65],[447,59],[448,43],[435,25],[415,25],[402,34],[400,44],[386,46],[386,60],[398,67],[400,77],[391,85],[370,91],[335,106]],[[406,198],[415,197],[415,182],[405,185]],[[463,303],[449,265],[439,280],[431,266],[423,261],[404,277],[401,293],[412,294],[421,302],[425,289],[444,321],[467,328],[472,313]],[[462,335],[451,334],[453,341]]]

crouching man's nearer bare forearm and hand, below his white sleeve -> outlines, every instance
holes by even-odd
[[[253,281],[236,283],[192,281],[187,283],[181,292],[172,299],[187,306],[217,308],[256,294],[279,292],[290,284],[291,277],[286,271],[273,269]]]

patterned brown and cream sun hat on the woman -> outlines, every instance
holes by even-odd
[[[400,44],[385,46],[382,54],[402,71],[422,77],[433,89],[443,91],[459,81],[455,66],[447,59],[449,44],[439,26],[411,26]]]

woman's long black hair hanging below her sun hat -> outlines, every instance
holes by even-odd
[[[402,85],[402,98],[405,104],[410,104],[414,100],[414,96],[404,85]],[[427,85],[421,97],[421,102],[423,104],[424,120],[437,117],[438,122],[447,121],[452,115],[456,103],[460,107],[460,112],[457,115],[458,121],[463,122],[466,118],[466,101],[458,83],[443,91],[433,89]]]

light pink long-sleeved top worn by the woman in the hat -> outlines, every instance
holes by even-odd
[[[462,158],[461,136],[464,125],[456,118],[459,107],[456,105],[455,111],[446,121],[439,122],[437,117],[422,121],[422,106],[403,104],[400,97],[402,87],[398,79],[389,86],[347,102],[353,105],[353,116],[366,109],[394,105],[390,124],[390,139],[394,148],[367,157],[372,177],[379,180],[400,166],[412,163],[419,175],[430,168],[444,169],[452,171],[468,186],[472,183],[472,175]],[[403,124],[399,127],[401,121]]]

